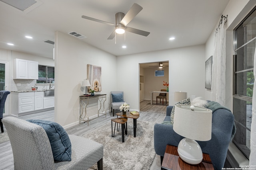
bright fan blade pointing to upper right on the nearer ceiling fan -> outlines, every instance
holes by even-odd
[[[140,5],[134,3],[120,23],[126,26],[142,9]]]

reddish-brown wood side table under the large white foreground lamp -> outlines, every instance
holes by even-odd
[[[214,170],[209,154],[203,153],[200,164],[192,165],[184,162],[178,155],[178,147],[167,145],[161,169],[163,170]]]

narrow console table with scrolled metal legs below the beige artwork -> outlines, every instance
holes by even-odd
[[[82,96],[79,96],[79,98],[80,98],[79,123],[81,123],[81,121],[84,121],[84,122],[87,122],[89,125],[89,121],[92,119],[89,119],[86,109],[87,109],[87,106],[89,105],[89,102],[91,100],[95,100],[95,99],[98,99],[98,101],[100,103],[100,108],[98,108],[98,104],[97,104],[98,117],[100,117],[102,115],[105,115],[105,117],[106,117],[106,109],[105,109],[106,94],[95,94],[94,96],[83,96],[82,95]],[[95,117],[95,118],[97,118],[97,117]]]

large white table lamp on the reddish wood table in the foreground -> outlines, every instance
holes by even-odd
[[[178,145],[180,158],[189,164],[199,164],[203,154],[196,141],[212,138],[212,110],[186,104],[175,105],[173,130],[185,137]]]

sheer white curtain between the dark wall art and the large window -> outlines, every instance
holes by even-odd
[[[214,34],[212,58],[212,100],[225,106],[226,100],[226,20],[223,18]]]

